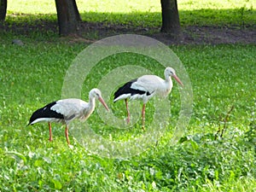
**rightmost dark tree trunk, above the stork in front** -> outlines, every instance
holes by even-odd
[[[161,0],[162,27],[161,32],[179,34],[181,31],[177,0]]]

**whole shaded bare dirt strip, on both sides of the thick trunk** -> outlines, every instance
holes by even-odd
[[[0,30],[28,35],[32,32],[58,33],[57,23],[39,20],[33,25],[0,23]],[[164,44],[256,44],[256,26],[186,26],[182,34],[174,37],[160,32],[160,28],[145,28],[131,25],[109,25],[106,23],[82,22],[78,35],[71,41],[92,43],[98,39],[118,34],[139,34],[158,39]]]

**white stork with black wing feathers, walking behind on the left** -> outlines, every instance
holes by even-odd
[[[102,102],[102,105],[107,109],[106,102],[102,99],[102,92],[98,89],[92,89],[89,93],[89,102],[84,102],[80,99],[63,99],[56,102],[51,102],[44,108],[39,108],[32,113],[28,125],[33,125],[38,122],[48,122],[49,125],[49,141],[52,141],[51,122],[66,124],[65,135],[68,139],[68,124],[73,119],[86,120],[94,111],[96,98]]]

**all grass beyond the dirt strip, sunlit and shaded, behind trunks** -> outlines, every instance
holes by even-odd
[[[160,27],[159,1],[77,1],[84,21],[107,24],[125,24],[143,27]],[[253,0],[232,1],[178,1],[182,26],[253,26],[256,22],[256,3]],[[22,6],[20,6],[20,4]],[[38,18],[56,20],[55,3],[26,0],[9,2],[7,21],[9,23]]]

